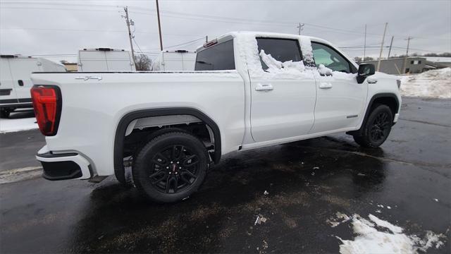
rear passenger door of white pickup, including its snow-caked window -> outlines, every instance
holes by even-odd
[[[251,132],[256,142],[293,138],[309,133],[314,123],[316,87],[311,71],[303,70],[298,39],[257,38],[262,71],[249,71],[251,79]],[[292,61],[296,68],[280,68]],[[249,65],[249,63],[248,63]],[[280,72],[280,73],[278,73]]]

